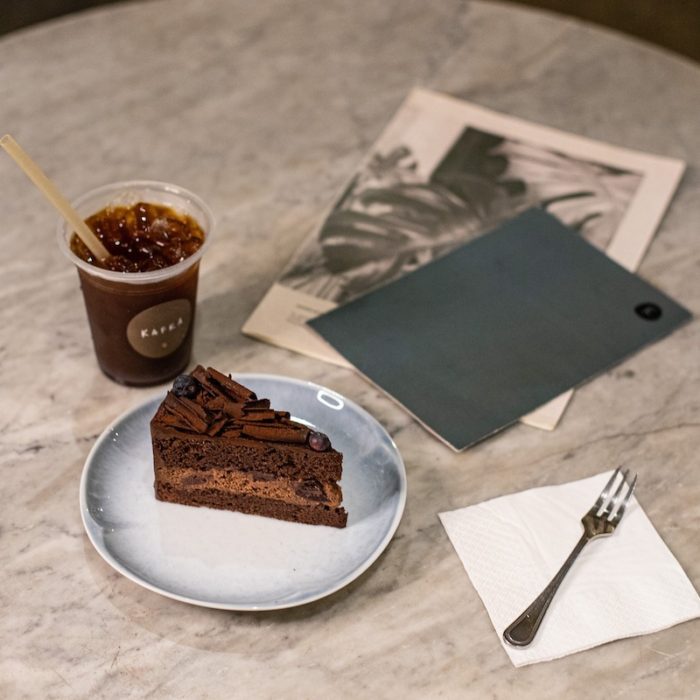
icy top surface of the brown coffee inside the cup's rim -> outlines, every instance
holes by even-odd
[[[204,243],[204,231],[186,214],[161,204],[107,207],[85,220],[110,254],[98,261],[74,233],[70,249],[85,262],[115,272],[150,272],[175,265]]]

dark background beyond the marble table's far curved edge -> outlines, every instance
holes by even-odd
[[[0,0],[0,34],[115,0]],[[129,0],[123,0],[128,2]],[[321,2],[321,0],[319,0]],[[700,0],[512,0],[580,17],[700,62]]]

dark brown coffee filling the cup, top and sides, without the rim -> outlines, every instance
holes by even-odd
[[[110,257],[103,262],[74,234],[73,253],[97,267],[149,272],[192,255],[205,234],[189,216],[139,202],[109,207],[86,219]],[[133,284],[78,268],[97,361],[111,379],[150,385],[180,374],[190,359],[199,262],[169,279]]]

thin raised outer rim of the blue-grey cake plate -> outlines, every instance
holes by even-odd
[[[90,543],[94,547],[94,549],[97,551],[97,553],[102,557],[102,559],[109,564],[115,571],[120,573],[122,576],[126,577],[127,579],[131,580],[132,582],[136,583],[137,585],[141,586],[142,588],[146,588],[147,590],[152,591],[153,593],[158,593],[159,595],[165,596],[166,598],[171,598],[172,600],[177,600],[182,603],[189,603],[190,605],[197,605],[199,607],[205,607],[205,608],[213,608],[217,610],[232,610],[232,611],[237,611],[237,612],[263,612],[267,610],[284,610],[286,608],[294,608],[298,607],[300,605],[307,605],[308,603],[313,603],[314,601],[320,600],[322,598],[326,598],[333,593],[336,593],[337,591],[341,590],[342,588],[345,588],[345,586],[349,585],[352,583],[354,580],[358,579],[362,574],[367,571],[374,562],[379,559],[379,557],[382,555],[384,550],[389,546],[389,543],[391,540],[394,538],[394,535],[396,534],[396,531],[398,530],[399,524],[401,523],[401,519],[403,517],[404,509],[406,507],[406,498],[407,498],[407,493],[408,493],[408,483],[407,483],[407,476],[406,476],[406,465],[404,464],[403,457],[401,456],[401,452],[399,451],[398,447],[396,446],[396,443],[394,442],[394,439],[389,435],[389,432],[387,429],[368,411],[366,411],[362,406],[359,406],[357,403],[355,403],[352,399],[348,399],[346,396],[343,394],[340,394],[339,392],[330,389],[326,386],[323,386],[322,384],[317,384],[316,382],[312,382],[306,379],[298,379],[296,377],[290,377],[287,375],[282,375],[282,374],[267,374],[267,373],[261,373],[261,372],[232,372],[231,373],[234,377],[240,378],[243,382],[246,380],[252,380],[255,381],[256,379],[261,379],[261,380],[282,380],[284,382],[291,382],[293,384],[300,384],[303,385],[305,388],[314,388],[319,391],[326,391],[330,392],[332,395],[338,396],[343,400],[343,402],[346,405],[351,406],[354,410],[358,411],[360,414],[365,416],[366,418],[369,418],[371,421],[377,424],[379,429],[386,435],[386,437],[389,440],[389,443],[391,444],[392,448],[394,449],[395,456],[397,458],[397,473],[399,477],[399,488],[398,488],[398,502],[396,505],[396,510],[394,511],[393,518],[391,520],[391,523],[389,525],[389,528],[387,529],[384,537],[381,539],[381,541],[377,544],[377,546],[370,552],[369,556],[356,568],[354,568],[352,571],[348,572],[345,576],[343,576],[339,581],[337,581],[333,586],[330,586],[329,588],[315,593],[308,595],[300,600],[297,601],[292,601],[292,602],[280,602],[278,604],[271,603],[271,604],[242,604],[242,603],[225,603],[225,602],[218,602],[218,601],[207,601],[207,600],[200,600],[197,598],[192,598],[190,596],[186,595],[181,595],[177,592],[168,590],[166,588],[162,588],[160,586],[157,586],[150,581],[146,581],[143,578],[139,577],[136,573],[131,571],[131,569],[125,567],[123,564],[121,564],[117,559],[115,559],[110,552],[106,549],[106,547],[101,546],[97,541],[96,538],[93,537],[93,533],[91,531],[91,527],[88,525],[87,518],[90,516],[88,507],[87,507],[87,480],[88,480],[88,475],[91,472],[93,462],[95,461],[95,455],[101,448],[102,444],[108,439],[110,436],[111,432],[113,431],[114,427],[126,419],[128,416],[130,416],[133,413],[136,413],[139,411],[141,408],[143,408],[146,404],[155,401],[158,399],[158,397],[161,397],[160,400],[162,400],[162,397],[165,396],[163,391],[160,391],[157,394],[153,394],[152,396],[144,399],[143,401],[140,401],[138,404],[135,406],[132,406],[122,413],[120,413],[116,418],[114,418],[105,428],[104,430],[100,433],[99,437],[95,440],[92,448],[90,449],[90,452],[88,452],[87,457],[85,458],[85,463],[83,465],[83,470],[80,476],[80,486],[79,486],[79,503],[80,503],[80,518],[83,523],[83,529],[85,530],[85,533],[87,534],[88,539],[90,540]],[[92,520],[92,516],[90,516]],[[94,523],[94,520],[92,520]],[[100,529],[101,528],[97,528]]]

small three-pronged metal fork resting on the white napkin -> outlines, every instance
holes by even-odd
[[[629,476],[629,469],[625,469],[622,474],[622,480],[611,498],[610,493],[619,474],[620,467],[613,472],[610,481],[601,491],[593,507],[581,518],[583,535],[581,535],[581,539],[571,554],[569,554],[561,569],[557,571],[542,593],[503,632],[503,639],[508,644],[516,647],[525,647],[532,642],[559,585],[564,580],[564,576],[566,576],[574,561],[576,561],[576,557],[581,553],[581,550],[596,537],[605,537],[615,532],[615,528],[620,524],[620,520],[625,514],[625,508],[627,508],[634,487],[637,484],[637,475],[635,474],[632,483],[627,488],[627,493],[623,497],[622,490],[627,484],[627,477]]]

